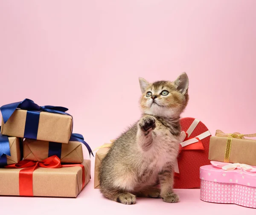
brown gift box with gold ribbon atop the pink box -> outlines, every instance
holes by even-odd
[[[209,159],[229,163],[243,163],[256,166],[256,134],[226,134],[217,130],[210,139]]]

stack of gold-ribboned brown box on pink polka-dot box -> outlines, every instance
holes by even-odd
[[[210,138],[210,165],[200,168],[201,200],[256,208],[256,134],[224,133]]]

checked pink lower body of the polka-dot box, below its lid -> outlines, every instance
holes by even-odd
[[[200,199],[214,203],[237,204],[256,208],[256,188],[201,180]]]

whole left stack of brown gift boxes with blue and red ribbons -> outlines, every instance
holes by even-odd
[[[3,105],[0,195],[76,197],[90,181],[81,134],[73,133],[67,108],[30,99]]]

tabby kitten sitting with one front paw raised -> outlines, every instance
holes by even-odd
[[[142,117],[113,142],[102,160],[100,191],[122,204],[135,204],[136,196],[178,202],[172,188],[180,145],[180,113],[189,100],[188,76],[183,73],[174,82],[139,81]]]

